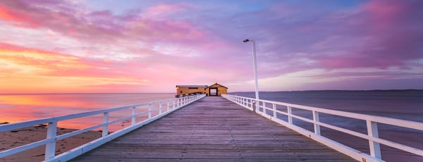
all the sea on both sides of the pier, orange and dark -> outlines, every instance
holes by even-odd
[[[231,92],[230,94],[255,98],[254,92]],[[259,96],[260,99],[271,101],[423,122],[423,91],[417,90],[260,92]],[[173,97],[173,93],[0,94],[0,123],[49,118]],[[293,113],[306,118],[311,116],[311,113],[295,111],[295,109]],[[98,118],[101,123],[101,116],[98,116]],[[364,134],[367,133],[365,121],[362,120],[321,115],[321,121]],[[294,123],[305,127],[307,130],[312,130],[312,125],[301,120],[294,120]],[[90,118],[81,118],[80,120],[59,123],[59,127],[79,129],[93,124],[99,123]],[[381,138],[423,149],[423,131],[382,124],[379,124],[378,127],[379,137]],[[369,144],[364,139],[334,132],[325,129],[325,127],[321,127],[321,135],[369,153]],[[423,156],[407,154],[383,145],[381,150],[382,158],[388,159],[388,161],[423,161]]]

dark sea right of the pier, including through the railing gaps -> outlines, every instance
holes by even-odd
[[[254,92],[232,92],[230,94],[255,98]],[[260,99],[281,101],[290,104],[300,104],[318,108],[327,108],[338,111],[349,111],[388,118],[398,118],[423,122],[423,91],[307,91],[307,92],[260,92]],[[286,108],[281,108],[286,111]],[[298,116],[312,119],[309,111],[300,111],[293,108]],[[284,116],[278,116],[288,120]],[[356,132],[367,134],[366,122],[337,116],[320,115],[321,122],[348,128]],[[314,131],[313,125],[293,120],[295,125]],[[400,144],[406,144],[417,149],[423,149],[423,131],[378,124],[379,137]],[[321,127],[321,135],[335,139],[359,151],[369,154],[368,141],[347,135],[342,132]],[[381,145],[382,158],[386,161],[423,161],[423,155],[417,156],[405,153],[398,149]]]

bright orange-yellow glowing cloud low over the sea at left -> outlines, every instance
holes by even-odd
[[[145,83],[77,56],[4,44],[0,56],[0,93],[107,92],[96,86]]]

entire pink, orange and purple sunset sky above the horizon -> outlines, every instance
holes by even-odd
[[[1,93],[423,89],[423,1],[0,1]]]

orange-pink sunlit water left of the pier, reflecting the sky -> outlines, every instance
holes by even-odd
[[[0,94],[0,123],[16,123],[171,98],[173,94]],[[137,108],[137,111],[141,109]],[[111,113],[110,120],[130,113],[128,110]],[[58,125],[80,129],[99,123],[102,123],[102,115],[66,120]],[[116,129],[125,127],[127,123],[116,124]]]

